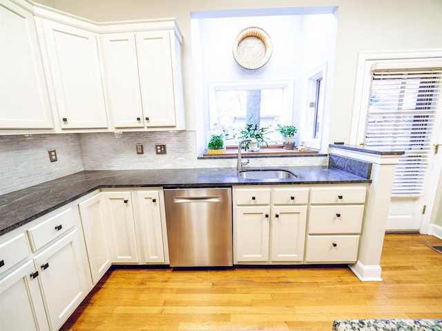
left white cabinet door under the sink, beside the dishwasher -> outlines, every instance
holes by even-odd
[[[269,214],[267,206],[237,206],[235,208],[236,262],[269,259]]]

